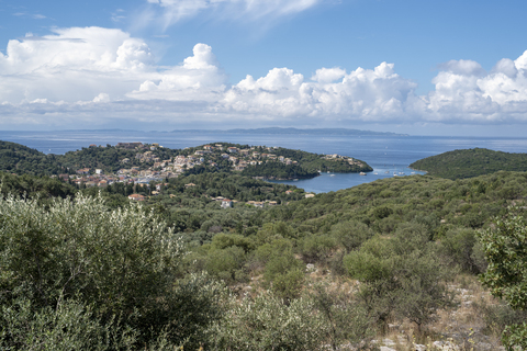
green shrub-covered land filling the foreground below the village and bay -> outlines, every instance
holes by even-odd
[[[0,180],[2,349],[527,347],[525,172],[310,199],[206,167],[149,186]]]

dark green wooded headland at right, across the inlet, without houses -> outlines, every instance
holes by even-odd
[[[410,167],[448,179],[471,178],[497,171],[525,172],[527,154],[508,154],[481,148],[453,150],[424,158]]]

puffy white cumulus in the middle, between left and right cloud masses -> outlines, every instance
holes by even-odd
[[[315,82],[288,68],[274,68],[255,80],[247,76],[225,94],[225,106],[268,117],[321,117],[324,120],[382,121],[403,118],[414,100],[416,84],[382,63],[373,70],[358,68],[346,75],[321,69]],[[341,81],[334,82],[337,79]]]

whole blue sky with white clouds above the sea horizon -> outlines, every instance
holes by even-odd
[[[525,136],[525,0],[0,0],[0,129]]]

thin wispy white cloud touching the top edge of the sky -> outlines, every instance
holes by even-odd
[[[321,0],[146,0],[162,10],[164,26],[212,11],[224,19],[273,19],[307,10]],[[152,13],[147,12],[147,16]]]

